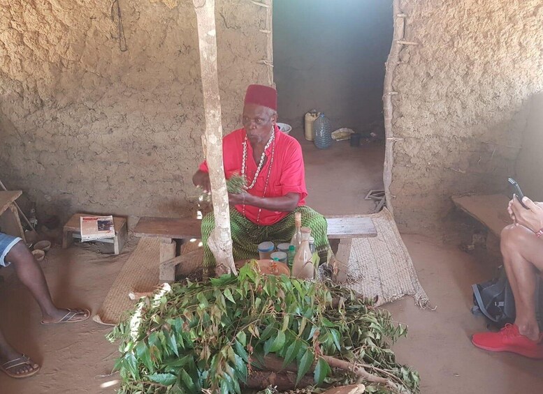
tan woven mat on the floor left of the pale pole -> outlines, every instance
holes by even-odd
[[[99,312],[92,317],[96,323],[113,326],[126,310],[133,308],[130,291],[152,291],[159,284],[159,238],[141,238],[136,249],[111,285]]]

